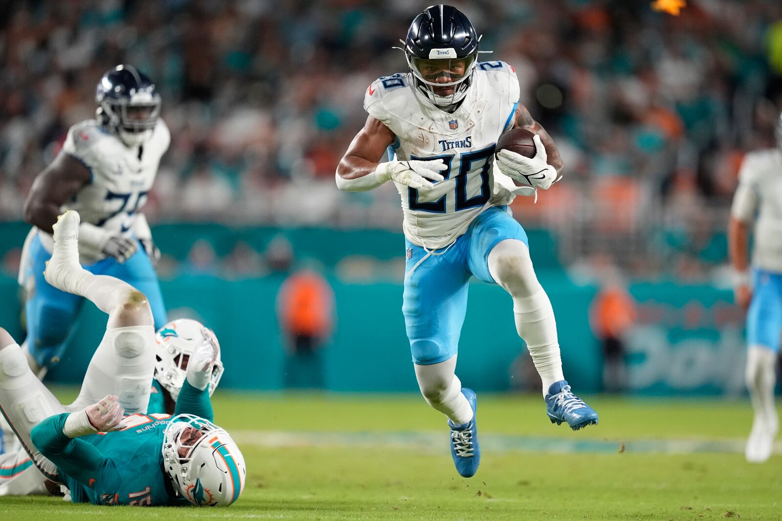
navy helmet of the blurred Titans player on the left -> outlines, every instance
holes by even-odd
[[[118,65],[95,87],[98,120],[117,131],[128,146],[141,145],[160,117],[155,84],[134,66]]]

